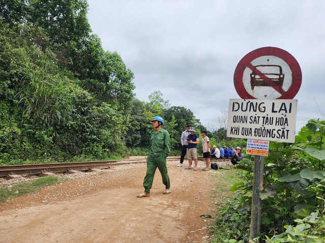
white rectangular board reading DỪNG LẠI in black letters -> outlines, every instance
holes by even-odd
[[[295,142],[297,100],[231,99],[227,137]]]

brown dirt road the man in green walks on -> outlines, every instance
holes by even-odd
[[[167,164],[170,194],[162,194],[157,170],[151,196],[136,196],[143,192],[142,163],[10,200],[0,205],[0,242],[204,242],[209,219],[200,215],[211,214],[211,174],[222,171],[204,172],[200,161],[198,171]]]

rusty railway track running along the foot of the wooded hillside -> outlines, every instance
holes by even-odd
[[[178,160],[179,156],[169,156],[168,160]],[[204,160],[203,157],[198,157]],[[216,161],[216,159],[211,159]],[[130,158],[124,160],[107,160],[107,161],[84,161],[72,163],[52,163],[52,164],[34,164],[34,165],[14,165],[0,166],[0,178],[8,176],[20,175],[24,177],[38,176],[44,173],[69,173],[70,171],[89,172],[93,169],[109,169],[117,165],[136,164],[146,162],[146,156],[141,158]]]

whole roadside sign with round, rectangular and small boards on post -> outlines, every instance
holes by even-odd
[[[235,89],[243,100],[230,100],[227,136],[294,143],[297,100],[291,99],[301,81],[297,60],[280,48],[263,47],[246,54],[234,73]],[[259,154],[262,150],[250,149]],[[263,155],[254,155],[250,239],[258,237],[261,229]]]

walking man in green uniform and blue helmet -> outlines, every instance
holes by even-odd
[[[143,180],[144,193],[140,193],[138,197],[150,196],[150,189],[156,169],[158,168],[166,190],[163,194],[171,193],[171,183],[167,172],[166,158],[171,151],[171,138],[169,133],[161,128],[164,124],[164,119],[160,116],[152,118],[152,127],[155,129],[150,135],[149,151],[147,156],[147,173]]]

